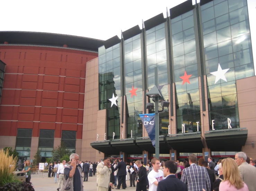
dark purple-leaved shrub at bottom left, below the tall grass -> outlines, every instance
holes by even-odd
[[[28,182],[12,182],[0,186],[1,191],[35,191],[32,183]]]

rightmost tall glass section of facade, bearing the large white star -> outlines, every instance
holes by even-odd
[[[246,2],[214,0],[201,6],[211,130],[228,129],[228,119],[232,128],[240,127],[236,80],[254,76]]]

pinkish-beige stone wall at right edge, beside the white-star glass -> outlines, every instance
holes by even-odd
[[[237,100],[240,127],[246,127],[248,137],[242,151],[256,159],[256,76],[237,80]]]

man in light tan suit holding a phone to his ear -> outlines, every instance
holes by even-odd
[[[97,165],[97,191],[108,191],[110,185],[111,165],[108,157]]]

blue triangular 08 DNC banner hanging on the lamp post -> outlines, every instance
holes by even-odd
[[[153,146],[155,147],[156,146],[155,113],[139,114],[139,115],[149,135],[149,138]]]

